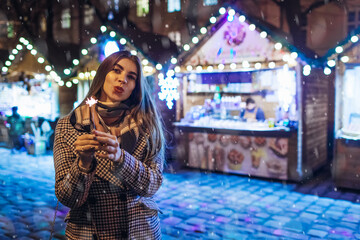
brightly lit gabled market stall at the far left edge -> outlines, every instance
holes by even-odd
[[[56,84],[60,81],[59,76],[51,64],[23,37],[19,39],[16,48],[12,49],[1,70],[0,111],[10,116],[11,108],[17,106],[18,113],[24,120],[23,137],[28,152],[44,153],[50,135],[40,131],[38,120],[53,121],[59,116],[59,90]],[[4,127],[3,125],[2,128]],[[4,129],[1,131],[5,132]]]

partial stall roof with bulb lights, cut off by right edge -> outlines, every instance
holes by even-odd
[[[339,58],[344,63],[360,63],[360,27],[350,32],[336,47],[330,49],[322,58],[329,67],[335,66]]]

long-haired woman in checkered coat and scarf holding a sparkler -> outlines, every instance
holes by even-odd
[[[55,192],[70,211],[69,239],[159,239],[153,195],[162,183],[164,136],[159,114],[127,51],[99,66],[86,99],[59,120]]]

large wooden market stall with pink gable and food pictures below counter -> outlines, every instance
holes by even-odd
[[[177,161],[273,179],[311,176],[327,161],[334,74],[245,15],[230,8],[219,13],[160,79],[179,82]],[[241,117],[248,98],[265,120]]]

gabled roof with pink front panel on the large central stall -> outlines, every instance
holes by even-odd
[[[297,61],[322,65],[314,52],[291,44],[291,37],[275,30],[259,19],[246,17],[241,11],[222,7],[210,25],[200,29],[202,34],[185,44],[178,57],[181,66],[210,66],[231,63],[253,68],[255,63],[274,62],[283,65],[297,53]],[[273,64],[272,64],[273,65]]]

